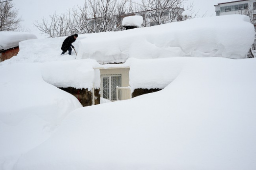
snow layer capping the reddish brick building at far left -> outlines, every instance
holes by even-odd
[[[36,38],[34,34],[26,32],[0,31],[0,50],[17,47],[23,40]]]

